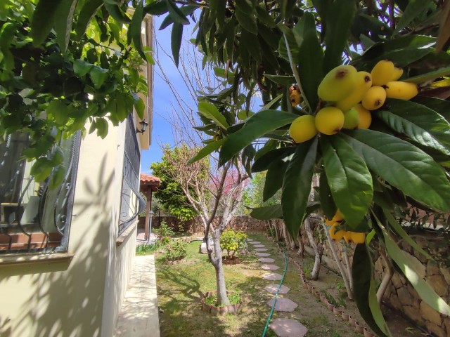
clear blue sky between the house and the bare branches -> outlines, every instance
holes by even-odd
[[[170,50],[170,32],[171,27],[166,29],[158,30],[161,25],[164,16],[154,17],[155,18],[155,35],[156,40],[160,44],[158,46],[158,54],[153,55],[154,58],[159,58],[160,64],[164,69],[164,72],[169,77],[169,80],[174,83],[174,85],[179,88],[176,95],[181,95],[187,97],[188,91],[185,87],[184,81],[181,79],[179,72],[176,70],[174,62],[165,53],[162,52],[163,48],[169,55],[172,55]],[[188,37],[191,33],[192,26],[185,26],[184,29],[184,39]],[[162,157],[162,151],[160,145],[169,144],[174,145],[174,140],[172,136],[172,128],[165,117],[169,114],[171,107],[171,101],[173,101],[173,93],[169,86],[161,79],[161,71],[158,65],[154,67],[154,86],[153,86],[153,130],[152,130],[152,144],[150,149],[142,152],[141,157],[141,172],[150,173],[150,165],[155,161],[160,161]]]

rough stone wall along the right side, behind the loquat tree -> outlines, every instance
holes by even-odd
[[[322,262],[331,269],[338,272],[338,265],[333,260],[333,255],[330,251],[328,244],[326,243],[326,237],[324,237],[321,226],[311,226],[313,231],[319,230],[321,235],[314,233],[314,238],[318,244],[323,246],[323,258]],[[313,251],[309,246],[309,240],[304,227],[301,230],[302,242],[304,244],[305,251],[313,255]],[[435,257],[437,261],[434,262],[427,260],[422,254],[413,249],[406,242],[401,242],[399,246],[411,263],[414,265],[420,277],[423,277],[430,286],[441,296],[446,303],[450,303],[450,268],[445,265],[444,261],[449,258],[450,249],[446,245],[444,238],[439,238],[434,232],[420,232],[412,234],[416,243],[420,248],[424,249],[431,256]],[[335,244],[338,248],[338,256],[342,261],[342,244]],[[350,244],[349,248],[349,260],[352,263],[352,251],[354,244]],[[383,275],[385,275],[385,265],[381,258],[377,258],[375,261],[375,279],[381,282]],[[427,303],[420,299],[418,293],[413,286],[398,272],[394,272],[392,282],[387,287],[383,301],[389,304],[392,308],[395,308],[412,319],[416,324],[423,326],[424,329],[430,333],[434,333],[438,337],[450,336],[450,317],[439,314],[436,310],[432,309]]]

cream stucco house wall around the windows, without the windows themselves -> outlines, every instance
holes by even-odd
[[[0,263],[0,336],[112,336],[136,228],[116,249],[124,126],[82,140],[68,253],[72,260]]]

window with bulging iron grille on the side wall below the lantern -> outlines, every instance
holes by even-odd
[[[129,114],[127,119],[127,130],[125,132],[119,234],[126,230],[136,217],[139,216],[139,213],[146,207],[146,201],[144,201],[139,193],[140,165],[141,151],[139,150],[133,117]]]

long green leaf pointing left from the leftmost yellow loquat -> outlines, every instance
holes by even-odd
[[[257,112],[244,124],[239,131],[232,133],[226,140],[220,152],[220,164],[226,163],[231,157],[269,131],[292,123],[298,116],[278,110],[264,110]]]

